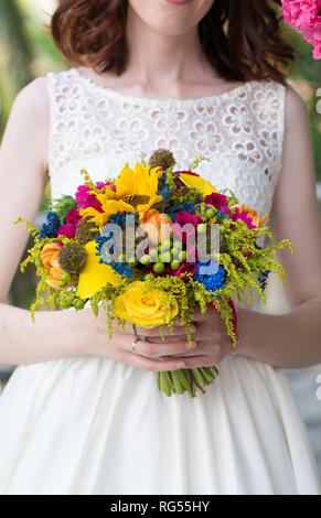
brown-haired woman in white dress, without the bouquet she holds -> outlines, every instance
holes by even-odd
[[[225,32],[227,31],[227,32]],[[14,102],[0,151],[1,494],[320,494],[283,367],[321,361],[321,228],[304,104],[286,83],[290,45],[254,0],[62,0],[52,32],[72,68]],[[290,311],[239,305],[233,354],[214,310],[132,349],[103,312],[36,313],[4,303],[46,182],[74,194],[126,161],[171,149],[260,215],[282,252]],[[167,398],[158,370],[220,365],[205,395]]]

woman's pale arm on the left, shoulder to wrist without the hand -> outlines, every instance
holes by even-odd
[[[67,354],[55,328],[58,315],[39,312],[36,325],[29,311],[4,304],[28,241],[18,216],[34,220],[47,182],[49,99],[46,79],[39,78],[17,97],[0,148],[0,363],[19,364]],[[66,319],[60,320],[60,326]],[[62,334],[63,336],[63,334]],[[45,337],[45,338],[44,338]],[[69,344],[71,345],[71,344]]]

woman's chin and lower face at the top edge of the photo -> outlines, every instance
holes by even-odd
[[[170,3],[170,2],[185,3]],[[135,15],[160,34],[174,36],[196,26],[214,0],[129,0],[129,15]]]

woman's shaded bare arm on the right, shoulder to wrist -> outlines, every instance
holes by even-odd
[[[287,237],[296,249],[295,255],[280,252],[290,312],[265,315],[240,310],[238,354],[277,367],[304,367],[321,361],[321,224],[307,110],[291,88],[287,91],[282,170],[271,214],[275,239]]]

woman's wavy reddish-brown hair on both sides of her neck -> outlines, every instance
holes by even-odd
[[[295,60],[282,37],[276,0],[215,0],[199,24],[200,41],[226,80],[285,83]],[[126,69],[128,0],[61,0],[51,22],[55,44],[72,65],[96,72]]]

